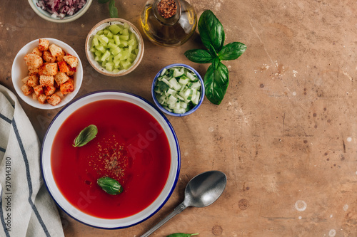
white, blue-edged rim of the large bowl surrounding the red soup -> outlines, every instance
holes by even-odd
[[[84,213],[81,211],[81,209],[76,208],[69,201],[67,201],[67,199],[59,190],[51,169],[51,149],[56,145],[54,144],[54,138],[56,136],[56,132],[59,130],[64,120],[66,120],[74,111],[78,110],[84,105],[88,105],[91,102],[96,102],[99,100],[121,100],[138,105],[139,107],[146,110],[146,112],[149,112],[150,115],[152,115],[155,120],[159,122],[169,141],[171,165],[169,169],[169,177],[167,178],[166,184],[164,185],[164,189],[154,200],[154,202],[152,202],[146,209],[126,218],[97,218],[95,216]],[[125,113],[125,111],[123,112]],[[164,206],[174,191],[180,170],[180,160],[181,158],[178,139],[174,132],[174,128],[171,126],[169,120],[167,120],[164,114],[162,114],[159,110],[156,109],[156,107],[151,105],[151,103],[144,100],[143,98],[140,98],[139,96],[133,95],[131,93],[125,93],[116,90],[89,93],[88,95],[84,95],[83,97],[74,100],[69,105],[66,105],[66,107],[64,107],[56,115],[54,120],[51,122],[51,125],[49,125],[49,129],[46,132],[41,149],[41,169],[44,175],[44,182],[52,198],[54,201],[56,201],[56,204],[58,204],[58,206],[60,206],[61,209],[63,209],[72,218],[75,218],[81,223],[85,223],[96,228],[126,228],[129,226],[134,226],[137,223],[140,223],[141,221],[144,221],[147,218],[153,216],[157,211],[159,211],[159,209],[161,209],[162,206]]]

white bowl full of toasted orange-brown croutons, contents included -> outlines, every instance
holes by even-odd
[[[39,38],[17,53],[11,78],[24,102],[51,110],[66,105],[76,96],[83,68],[71,46],[54,38]]]

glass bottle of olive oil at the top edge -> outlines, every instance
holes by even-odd
[[[159,46],[181,46],[196,26],[196,11],[184,0],[149,0],[141,14],[145,35]]]

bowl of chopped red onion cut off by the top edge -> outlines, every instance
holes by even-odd
[[[29,0],[31,8],[42,19],[66,23],[79,19],[91,6],[92,0]]]

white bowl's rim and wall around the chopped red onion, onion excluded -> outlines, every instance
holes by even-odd
[[[36,4],[38,3],[38,0],[29,0],[29,4],[31,8],[36,12],[37,15],[39,15],[42,19],[45,19],[46,21],[51,21],[51,22],[56,22],[56,23],[66,23],[66,22],[71,22],[76,19],[79,19],[83,14],[86,13],[86,11],[89,9],[89,6],[91,6],[92,0],[87,0],[86,4],[76,12],[76,14],[70,16],[64,16],[63,19],[60,19],[59,17],[52,17],[48,11],[45,11],[41,9],[41,7],[37,6]]]

